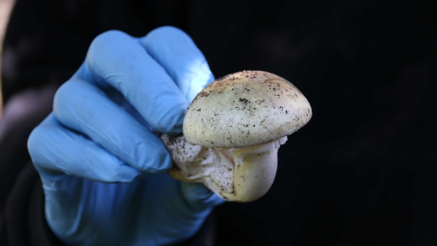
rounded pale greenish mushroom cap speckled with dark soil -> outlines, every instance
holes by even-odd
[[[264,71],[242,71],[208,84],[188,108],[183,133],[206,148],[246,148],[299,130],[310,103],[292,83]]]

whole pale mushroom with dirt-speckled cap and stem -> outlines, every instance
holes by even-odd
[[[190,104],[183,134],[161,135],[174,162],[169,174],[201,182],[228,201],[257,200],[273,184],[279,147],[311,116],[302,92],[275,74],[217,79]]]

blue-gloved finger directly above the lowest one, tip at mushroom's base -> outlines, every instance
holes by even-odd
[[[78,98],[80,100],[78,100]],[[171,157],[161,140],[97,87],[71,79],[56,92],[56,119],[140,171],[163,172]]]

